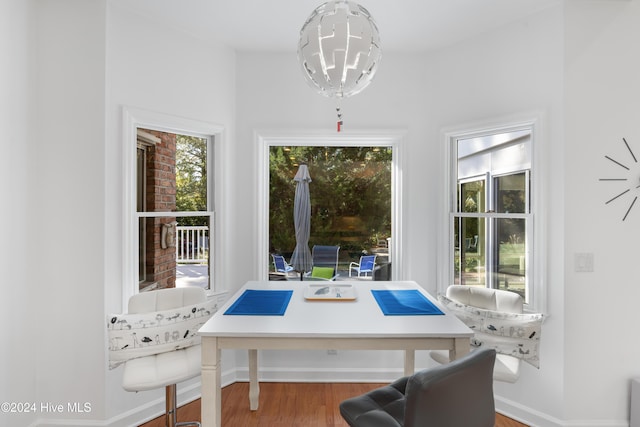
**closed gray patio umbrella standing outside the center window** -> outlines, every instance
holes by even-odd
[[[311,231],[311,198],[309,183],[311,176],[307,165],[300,165],[296,176],[296,196],[293,203],[293,225],[296,232],[296,248],[291,256],[291,266],[300,272],[300,280],[306,271],[311,270],[312,259],[309,250],[309,233]]]

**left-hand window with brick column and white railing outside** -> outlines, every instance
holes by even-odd
[[[124,110],[123,301],[134,293],[214,291],[214,141],[222,128]]]

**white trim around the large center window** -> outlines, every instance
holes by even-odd
[[[391,277],[392,280],[403,280],[402,268],[402,223],[403,223],[403,191],[402,171],[404,168],[402,145],[404,131],[348,131],[328,133],[326,131],[256,131],[257,146],[257,200],[260,214],[257,218],[256,230],[258,242],[255,259],[254,276],[267,280],[269,271],[269,147],[271,146],[369,146],[393,147],[391,163]],[[292,213],[293,215],[293,213]],[[292,230],[293,231],[293,230]]]

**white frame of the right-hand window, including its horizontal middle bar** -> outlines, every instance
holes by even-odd
[[[540,114],[528,114],[520,117],[508,117],[503,119],[491,120],[482,123],[475,123],[457,128],[446,129],[442,132],[444,139],[444,206],[443,206],[443,231],[440,235],[441,247],[444,249],[439,251],[439,264],[444,266],[440,269],[438,280],[438,293],[444,294],[446,288],[454,283],[454,224],[453,220],[456,216],[468,216],[463,212],[457,211],[458,202],[458,178],[457,178],[457,143],[458,140],[468,138],[486,137],[495,134],[516,132],[521,130],[529,130],[531,132],[530,155],[530,181],[529,181],[529,213],[525,214],[509,214],[509,217],[527,217],[527,245],[528,245],[528,261],[531,262],[531,270],[529,272],[529,282],[527,283],[527,303],[526,311],[546,311],[546,213],[544,194],[547,187],[544,165],[541,159],[546,157],[545,143],[543,141],[542,119]],[[516,173],[514,169],[511,173]],[[503,172],[496,172],[491,175],[490,179],[504,176]],[[484,179],[489,179],[486,177]],[[487,181],[488,182],[488,181]],[[488,185],[488,184],[487,184]],[[493,183],[491,184],[493,185]],[[493,197],[488,194],[487,197]],[[494,203],[487,199],[487,203]],[[462,215],[461,215],[462,214]],[[500,213],[483,213],[475,214],[479,218],[491,216],[492,218],[503,218],[505,214]],[[487,249],[488,251],[489,249]],[[491,285],[491,283],[486,283]]]

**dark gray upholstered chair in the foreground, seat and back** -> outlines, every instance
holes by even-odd
[[[493,349],[401,378],[345,400],[340,414],[352,427],[493,427]]]

